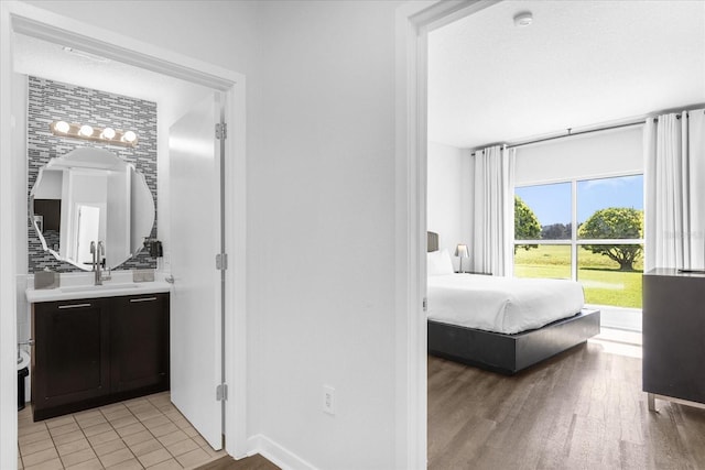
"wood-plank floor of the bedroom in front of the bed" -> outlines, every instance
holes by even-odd
[[[705,469],[705,409],[650,413],[641,359],[607,350],[590,341],[514,376],[429,357],[429,468]]]

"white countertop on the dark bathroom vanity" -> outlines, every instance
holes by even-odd
[[[165,281],[132,282],[130,275],[115,275],[112,280],[104,281],[102,285],[94,285],[93,276],[65,278],[62,275],[62,285],[55,288],[33,288],[24,291],[30,304],[37,302],[70,300],[75,298],[118,297],[122,295],[153,294],[170,292],[171,284]]]

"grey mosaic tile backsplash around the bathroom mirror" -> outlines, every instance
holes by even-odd
[[[156,103],[63,84],[44,78],[29,77],[28,100],[28,200],[39,170],[51,159],[62,156],[79,146],[108,150],[126,162],[132,163],[144,175],[156,206]],[[77,139],[59,138],[50,131],[53,121],[80,122],[100,128],[130,129],[138,133],[135,147],[108,145]],[[47,238],[48,237],[48,238]],[[151,238],[156,238],[156,215]],[[54,237],[56,239],[57,237]],[[51,233],[45,233],[52,243]],[[56,260],[42,249],[28,215],[29,271],[48,267],[57,272],[80,271],[73,264]],[[121,264],[119,270],[156,267],[156,259],[148,250]]]

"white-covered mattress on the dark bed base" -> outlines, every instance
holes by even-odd
[[[577,314],[583,286],[567,280],[480,274],[429,276],[429,319],[508,335]]]

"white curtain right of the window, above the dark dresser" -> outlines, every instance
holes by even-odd
[[[705,110],[648,119],[643,147],[644,270],[705,269]]]

